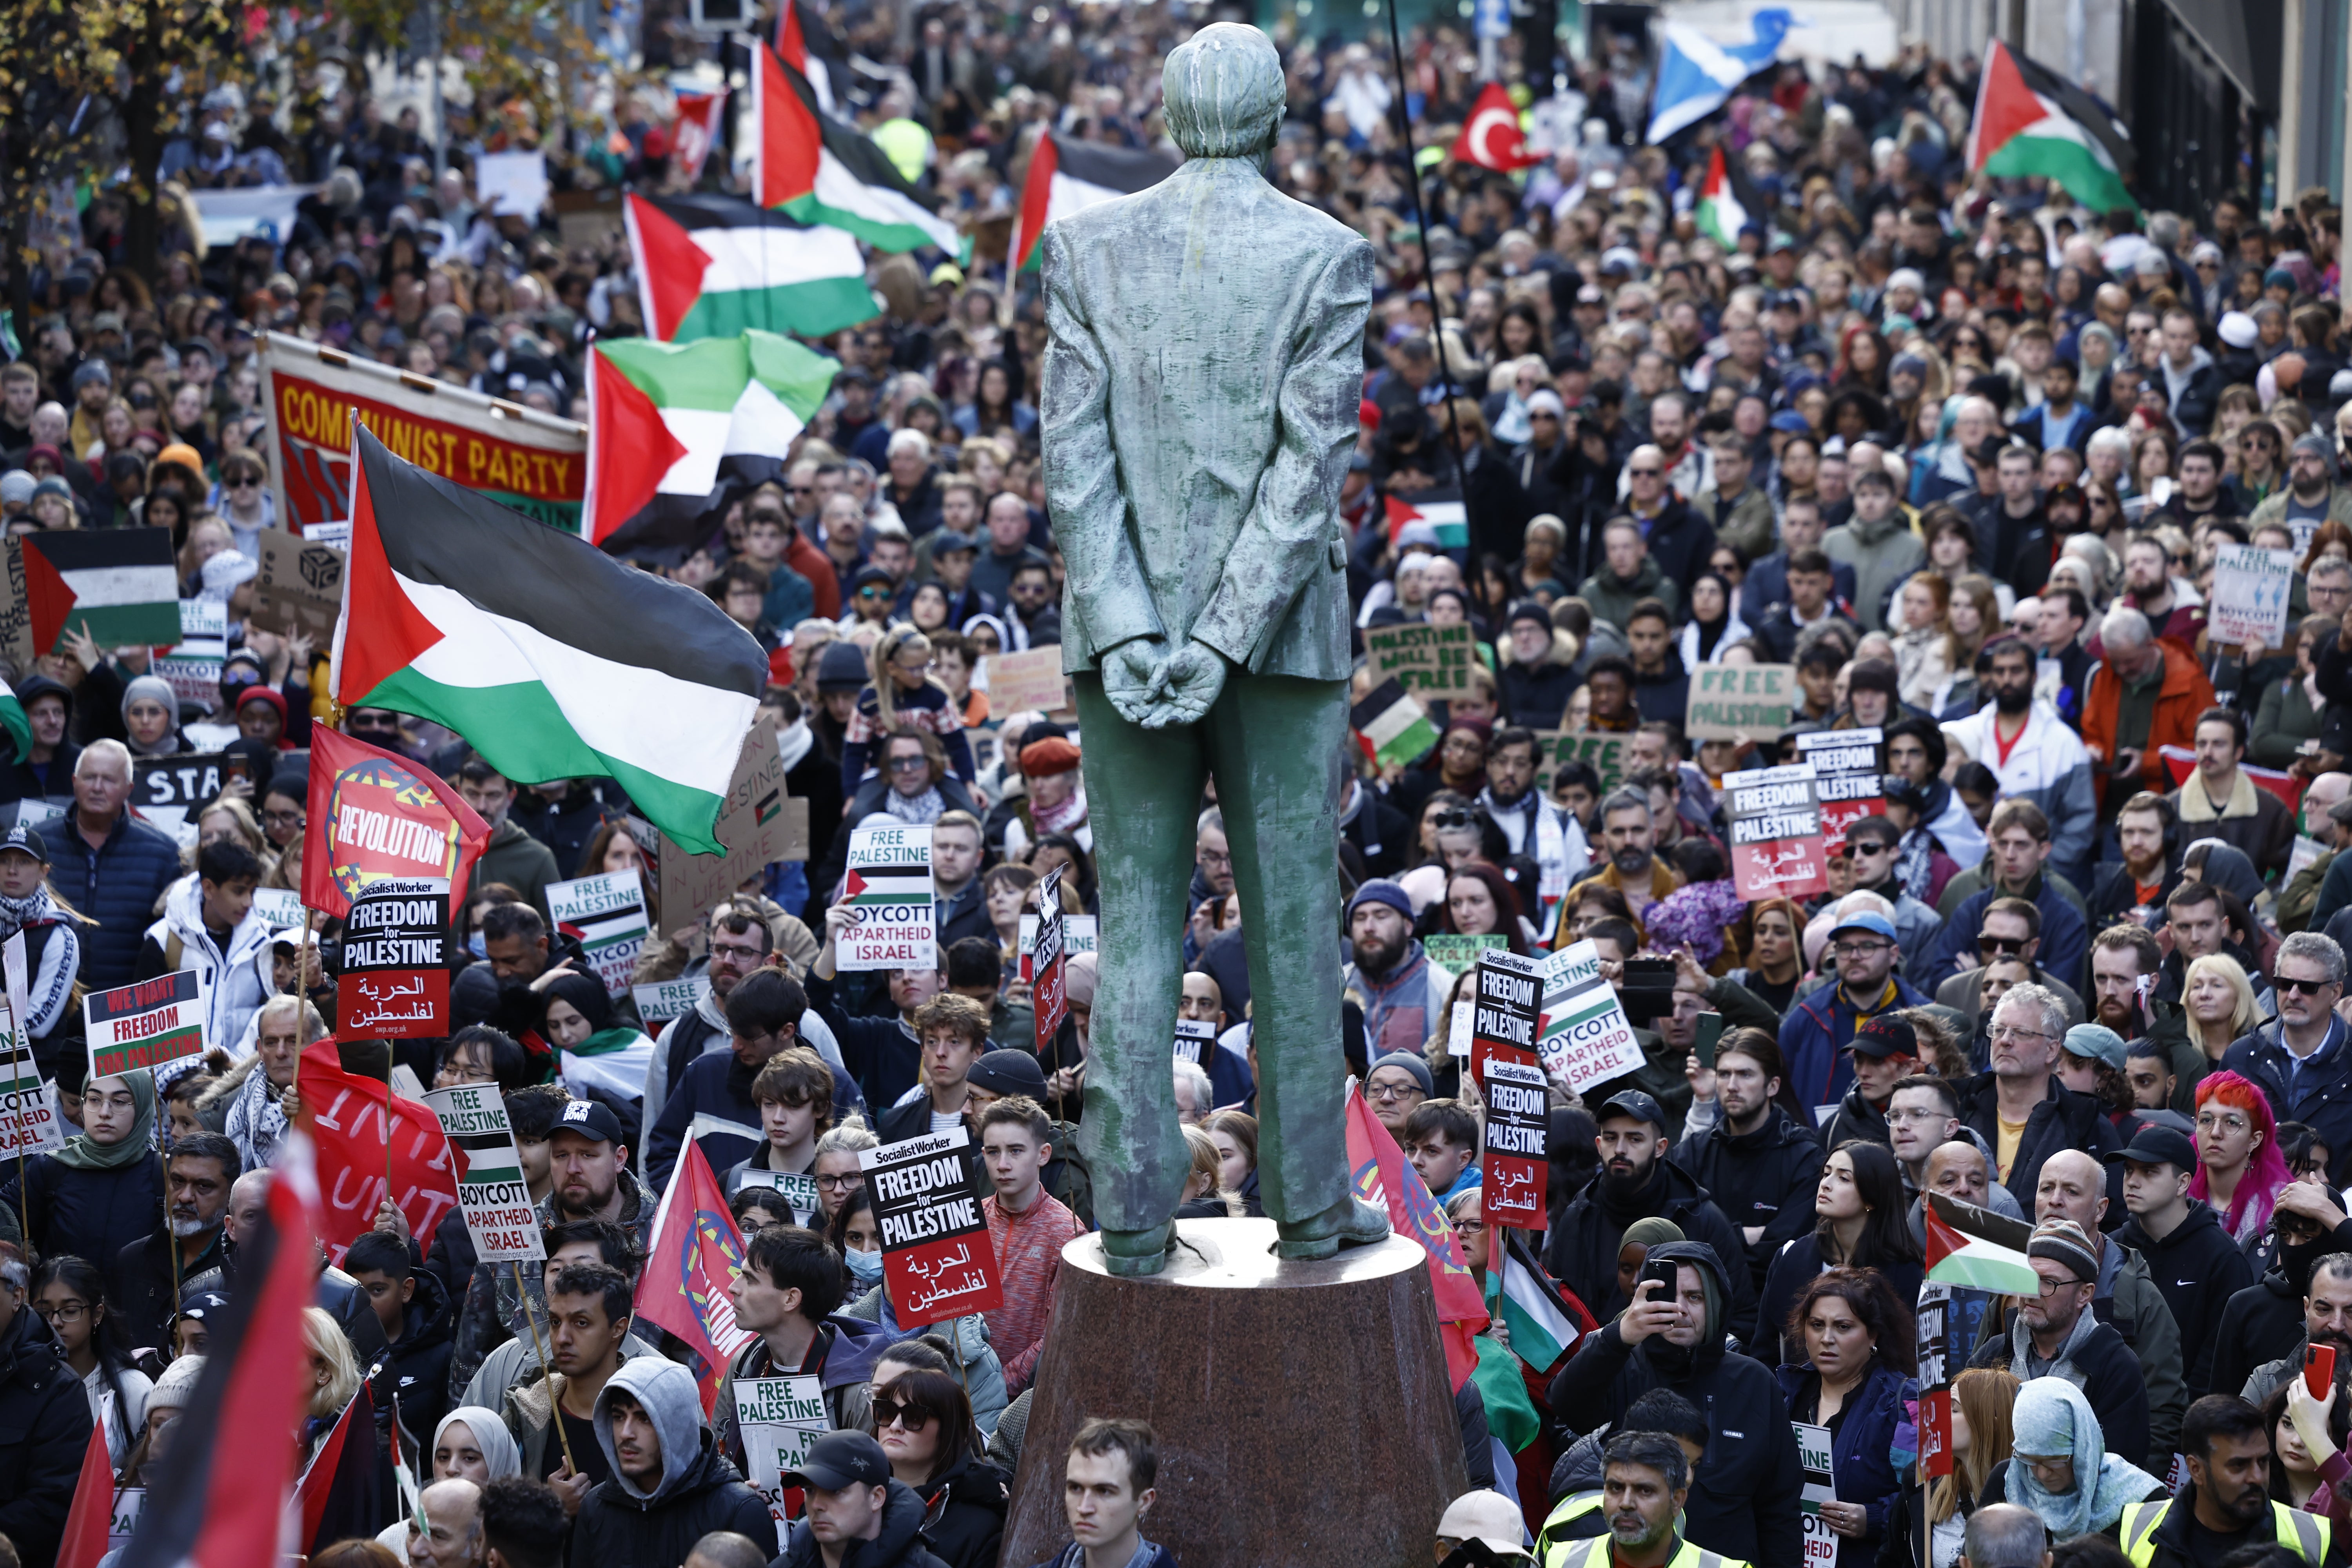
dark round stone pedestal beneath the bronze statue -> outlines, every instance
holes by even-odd
[[[1164,1272],[1063,1248],[1004,1563],[1068,1542],[1063,1458],[1094,1415],[1160,1434],[1143,1533],[1183,1568],[1406,1568],[1463,1479],[1461,1425],[1418,1244],[1279,1262],[1272,1220],[1178,1220]]]

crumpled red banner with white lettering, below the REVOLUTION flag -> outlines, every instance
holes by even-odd
[[[341,1265],[350,1244],[376,1227],[386,1175],[409,1234],[430,1251],[433,1229],[456,1208],[456,1161],[440,1117],[379,1079],[343,1072],[334,1037],[303,1046],[294,1093],[318,1145],[318,1234],[327,1260]],[[390,1157],[383,1150],[386,1126]]]

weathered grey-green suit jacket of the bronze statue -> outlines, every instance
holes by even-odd
[[[1345,679],[1338,491],[1371,244],[1237,158],[1044,230],[1040,418],[1063,670],[1134,637]]]

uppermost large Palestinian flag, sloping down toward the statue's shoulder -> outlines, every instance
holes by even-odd
[[[938,216],[929,195],[908,183],[866,132],[842,125],[816,103],[816,89],[774,49],[760,49],[750,89],[753,193],[802,223],[847,228],[877,252],[924,244],[971,259],[971,240]]]

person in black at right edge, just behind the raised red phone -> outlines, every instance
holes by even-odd
[[[2303,1368],[2305,1345],[2352,1359],[2352,1215],[2321,1180],[2279,1187],[2279,1251],[2270,1269],[2230,1298],[2213,1335],[2213,1387],[2246,1399]]]

